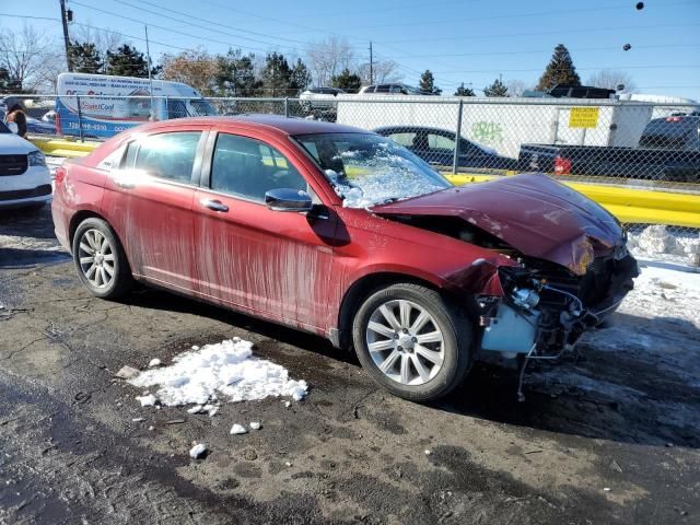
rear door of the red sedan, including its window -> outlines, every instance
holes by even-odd
[[[136,138],[107,177],[103,202],[133,273],[194,292],[192,199],[206,137],[190,128]]]

